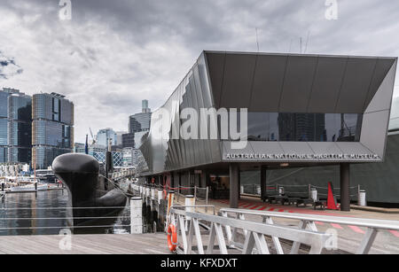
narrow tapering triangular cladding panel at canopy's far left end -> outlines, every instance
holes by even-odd
[[[210,85],[214,96],[215,107],[220,107],[224,74],[225,53],[207,52],[207,68],[209,71]]]

